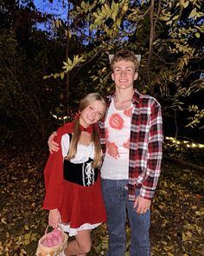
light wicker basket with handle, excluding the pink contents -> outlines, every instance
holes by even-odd
[[[37,256],[55,256],[61,253],[66,247],[67,247],[67,240],[68,240],[68,235],[67,233],[64,233],[61,228],[61,235],[62,235],[62,242],[53,247],[46,247],[41,244],[42,240],[45,240],[46,236],[48,235],[48,227],[45,230],[45,234],[41,237],[41,239],[38,241],[37,249],[35,255]]]

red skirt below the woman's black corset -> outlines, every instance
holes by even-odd
[[[63,181],[61,220],[71,228],[85,223],[94,225],[106,221],[105,205],[101,193],[100,177],[90,187]]]

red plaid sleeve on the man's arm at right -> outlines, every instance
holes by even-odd
[[[151,200],[154,197],[156,185],[161,172],[163,157],[163,119],[161,106],[154,102],[150,113],[150,131],[147,156],[147,179],[143,181],[140,195]]]

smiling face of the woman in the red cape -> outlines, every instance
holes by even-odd
[[[89,125],[99,121],[105,113],[105,105],[100,101],[94,101],[89,104],[80,113],[80,124],[86,128]]]

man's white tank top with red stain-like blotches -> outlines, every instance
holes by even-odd
[[[132,105],[117,110],[112,100],[105,118],[106,153],[101,167],[101,177],[109,180],[127,180]]]

